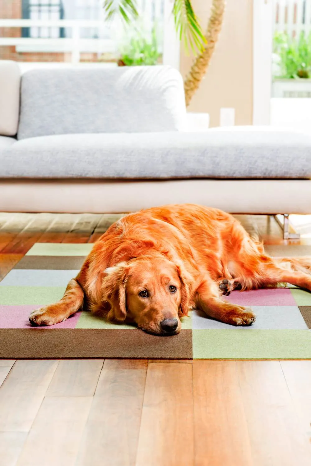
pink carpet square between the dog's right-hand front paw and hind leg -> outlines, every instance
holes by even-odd
[[[250,291],[233,291],[224,298],[241,306],[297,306],[288,288],[267,288]]]

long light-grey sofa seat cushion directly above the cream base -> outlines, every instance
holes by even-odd
[[[311,178],[311,136],[211,130],[36,137],[0,152],[0,177]]]

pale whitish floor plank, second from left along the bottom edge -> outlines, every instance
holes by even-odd
[[[92,399],[44,398],[17,466],[74,466]]]

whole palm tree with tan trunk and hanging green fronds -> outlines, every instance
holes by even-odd
[[[221,31],[225,0],[212,0],[211,15],[205,34],[200,27],[190,0],[171,1],[173,1],[173,16],[178,37],[184,41],[186,49],[190,45],[195,55],[184,83],[188,106],[206,74],[213,55]],[[104,11],[107,20],[118,15],[127,23],[138,16],[136,0],[104,0]]]

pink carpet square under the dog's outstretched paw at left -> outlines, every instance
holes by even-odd
[[[30,312],[41,306],[0,306],[0,329],[74,329],[81,312],[76,312],[65,322],[60,322],[48,327],[32,327],[28,320]]]

